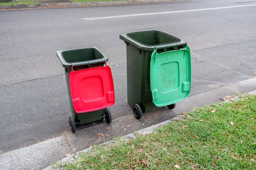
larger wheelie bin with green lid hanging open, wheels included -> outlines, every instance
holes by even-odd
[[[187,43],[161,31],[121,34],[127,54],[127,98],[134,116],[186,99],[191,85]]]

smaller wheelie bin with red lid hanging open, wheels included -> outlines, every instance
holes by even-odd
[[[77,126],[104,118],[111,123],[107,107],[114,104],[115,95],[108,58],[96,47],[57,51],[56,54],[64,67],[72,132],[76,132]]]

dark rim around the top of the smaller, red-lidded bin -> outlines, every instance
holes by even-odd
[[[101,59],[92,59],[88,61],[82,61],[82,62],[67,62],[64,57],[62,56],[62,52],[64,51],[72,51],[72,50],[82,50],[82,49],[90,49],[93,48],[97,50],[100,54],[102,54],[103,58]],[[94,64],[94,63],[99,63],[99,62],[107,62],[108,57],[102,53],[102,51],[99,50],[97,47],[87,47],[87,48],[76,48],[76,49],[70,49],[70,50],[62,50],[62,51],[56,51],[56,56],[61,60],[61,64],[65,68],[71,68],[71,66],[79,66],[79,65],[89,65],[89,64]]]

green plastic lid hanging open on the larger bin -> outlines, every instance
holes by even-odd
[[[190,49],[167,51],[151,55],[150,85],[153,102],[162,107],[180,102],[190,93]]]

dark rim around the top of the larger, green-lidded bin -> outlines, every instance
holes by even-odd
[[[150,31],[157,31],[157,32],[167,34],[165,32],[159,31],[159,30],[150,30]],[[138,32],[147,32],[147,31],[137,31],[137,32],[130,32],[130,33],[138,33]],[[154,47],[157,47],[157,49],[162,49],[162,48],[169,48],[169,47],[175,47],[175,46],[180,46],[180,45],[186,45],[187,44],[186,41],[183,41],[180,38],[174,37],[170,34],[167,34],[171,37],[179,39],[180,41],[174,42],[174,43],[161,44],[161,45],[145,45],[145,44],[142,44],[142,43],[128,37],[127,34],[130,34],[130,33],[120,34],[119,39],[125,41],[125,43],[129,42],[132,45],[134,45],[135,47],[137,47],[141,50],[146,50],[146,51],[154,51]]]

